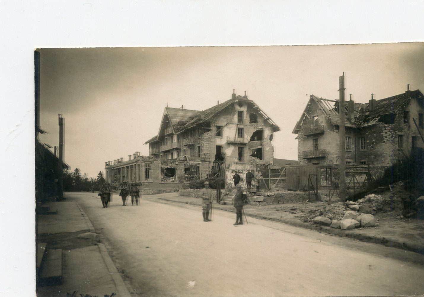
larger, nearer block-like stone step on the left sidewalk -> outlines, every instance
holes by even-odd
[[[62,279],[62,249],[46,251],[45,260],[41,265],[40,286],[61,285]]]

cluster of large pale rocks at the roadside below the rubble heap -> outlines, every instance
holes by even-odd
[[[325,216],[318,216],[312,221],[318,225],[340,228],[341,230],[349,230],[356,227],[374,227],[378,225],[377,220],[372,214],[357,213],[357,211],[353,210],[346,211],[343,218],[340,220],[331,220]]]

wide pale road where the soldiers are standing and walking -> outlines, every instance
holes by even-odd
[[[253,218],[233,226],[226,211],[203,222],[200,207],[152,196],[120,206],[114,195],[109,208],[96,193],[66,198],[84,209],[135,296],[424,294],[424,266],[408,260],[422,255],[411,252]]]

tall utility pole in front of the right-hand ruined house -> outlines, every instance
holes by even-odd
[[[339,189],[340,189],[340,200],[346,201],[346,138],[345,138],[345,114],[344,114],[344,72],[342,76],[339,76],[339,136],[340,136],[340,179],[339,179]]]

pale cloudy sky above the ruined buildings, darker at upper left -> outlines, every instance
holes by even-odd
[[[56,48],[41,53],[40,138],[59,144],[64,160],[88,176],[104,162],[139,151],[158,133],[166,106],[204,110],[246,91],[280,127],[274,158],[297,159],[292,134],[309,95],[366,103],[410,89],[424,90],[424,44],[255,47]]]

